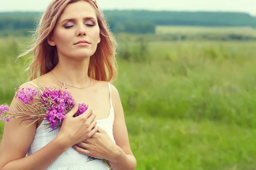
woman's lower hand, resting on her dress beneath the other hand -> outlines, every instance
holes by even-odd
[[[108,133],[100,127],[98,127],[98,132],[91,138],[73,145],[73,149],[93,158],[108,161],[115,161],[119,156],[117,145],[109,137]]]

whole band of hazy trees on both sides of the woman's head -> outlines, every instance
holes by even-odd
[[[155,33],[157,25],[166,26],[250,26],[256,28],[256,17],[241,12],[186,12],[146,10],[103,11],[115,33]],[[33,31],[41,12],[0,13],[0,31]],[[8,31],[6,31],[8,32]]]

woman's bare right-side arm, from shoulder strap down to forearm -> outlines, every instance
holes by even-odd
[[[117,89],[111,85],[115,120],[113,124],[113,136],[116,142],[116,159],[110,162],[113,170],[135,170],[137,161],[131,151],[128,139],[128,131],[125,125],[125,116]]]

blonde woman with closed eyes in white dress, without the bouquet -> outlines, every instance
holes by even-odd
[[[53,0],[41,17],[30,82],[71,92],[76,103],[89,105],[78,117],[76,105],[60,129],[43,130],[42,121],[26,127],[19,119],[6,122],[0,146],[3,170],[134,170],[124,113],[116,88],[115,40],[93,0]],[[37,77],[39,72],[40,77]],[[38,89],[39,91],[39,89]],[[10,109],[16,110],[13,99]],[[16,110],[17,111],[17,110]],[[45,121],[45,120],[44,120]],[[88,156],[98,158],[87,161]]]

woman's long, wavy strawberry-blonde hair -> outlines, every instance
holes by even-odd
[[[17,58],[32,54],[32,63],[29,65],[29,79],[33,80],[39,76],[51,71],[58,63],[58,54],[56,47],[48,44],[47,37],[52,34],[55,24],[63,13],[66,6],[81,0],[52,0],[46,11],[41,17],[40,23],[36,28],[34,37],[35,44],[20,54]],[[98,4],[93,0],[83,0],[90,3],[95,9],[97,20],[99,23],[100,38],[96,52],[90,57],[88,68],[88,76],[100,80],[111,82],[116,78],[116,40],[109,31],[109,27],[105,21],[104,14],[99,10]]]

